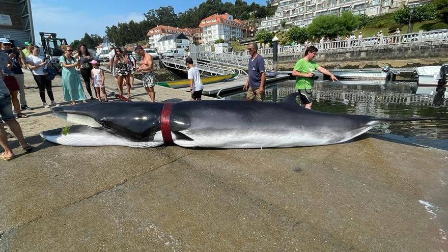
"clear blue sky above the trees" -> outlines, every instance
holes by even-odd
[[[103,3],[100,4],[101,2]],[[154,2],[164,2],[165,4],[154,4]],[[71,43],[75,39],[81,39],[86,32],[104,36],[106,26],[112,26],[118,22],[142,21],[143,14],[151,9],[172,6],[177,14],[197,7],[202,2],[205,0],[31,0],[31,10],[36,41],[40,40],[39,32],[47,32],[57,33],[59,38],[66,38],[67,42]],[[221,0],[221,2],[235,3],[234,0]],[[253,2],[266,5],[266,0],[246,0],[246,2],[249,5]],[[152,27],[148,27],[148,30],[150,28]]]

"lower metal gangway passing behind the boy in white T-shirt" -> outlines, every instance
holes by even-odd
[[[185,58],[163,58],[161,62],[167,68],[188,72],[188,69],[185,65]],[[246,71],[244,71],[243,69],[230,66],[222,66],[220,64],[203,62],[200,60],[197,60],[195,62],[195,66],[198,68],[201,75],[205,75],[204,73],[209,73],[211,76],[238,73],[239,75],[248,76]]]

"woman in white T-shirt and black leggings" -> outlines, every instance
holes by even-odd
[[[44,107],[50,107],[45,100],[45,90],[50,98],[51,106],[59,106],[54,101],[53,91],[51,90],[51,80],[48,79],[47,73],[43,71],[44,66],[48,64],[48,60],[44,60],[42,56],[39,56],[40,48],[37,45],[31,47],[31,54],[26,57],[26,64],[33,73],[34,80],[39,88],[40,99]]]

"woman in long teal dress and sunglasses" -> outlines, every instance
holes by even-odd
[[[87,97],[82,89],[81,81],[79,80],[76,68],[79,68],[79,62],[72,57],[73,49],[71,46],[62,45],[64,54],[59,58],[59,64],[62,69],[62,89],[64,92],[64,99],[71,101],[72,105],[76,105],[76,101],[86,103]]]

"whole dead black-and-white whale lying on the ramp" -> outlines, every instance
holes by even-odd
[[[297,104],[297,95],[278,103],[202,100],[56,107],[55,115],[81,125],[41,136],[67,146],[150,148],[173,142],[183,147],[285,148],[343,143],[386,122],[447,120],[323,113]]]

